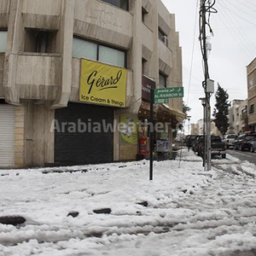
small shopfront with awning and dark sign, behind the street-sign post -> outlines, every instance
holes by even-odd
[[[154,104],[154,123],[150,123],[150,89],[155,89],[155,82],[143,76],[142,105],[139,109],[138,119],[138,153],[137,159],[147,158],[149,154],[150,129],[154,127],[154,153],[166,155],[172,152],[172,131],[182,123],[185,114],[175,108],[169,108],[166,104]]]

